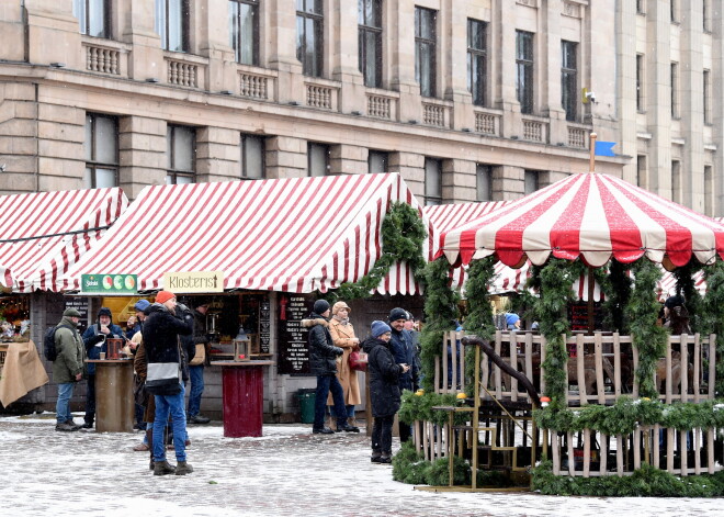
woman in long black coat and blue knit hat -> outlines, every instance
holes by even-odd
[[[399,409],[399,376],[407,372],[408,364],[396,364],[389,339],[392,329],[384,322],[372,322],[372,337],[362,344],[367,353],[370,375],[370,400],[372,402],[372,462],[392,462],[392,426]]]

